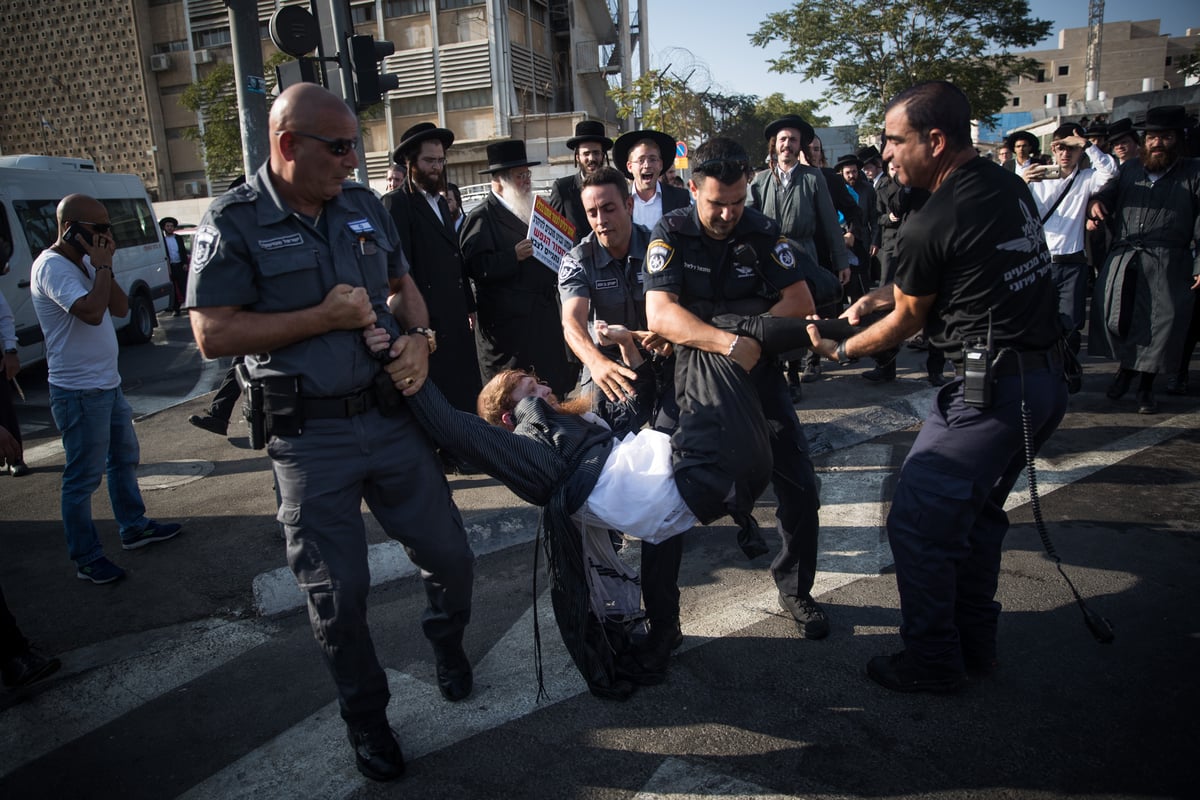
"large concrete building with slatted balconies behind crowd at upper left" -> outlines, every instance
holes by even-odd
[[[310,6],[257,1],[264,60],[276,53],[268,23],[283,5]],[[616,133],[610,77],[620,74],[620,42],[636,48],[643,34],[634,14],[620,35],[625,0],[349,6],[355,32],[395,43],[384,68],[401,78],[362,120],[372,180],[400,134],[426,120],[457,134],[448,166],[457,184],[479,182],[487,142],[510,137],[526,139],[547,176],[562,174],[577,121],[605,120]],[[226,0],[6,0],[0,37],[0,152],[91,158],[103,172],[140,175],[160,200],[211,196],[233,178],[205,174],[186,136],[203,120],[180,104],[188,85],[232,61]]]

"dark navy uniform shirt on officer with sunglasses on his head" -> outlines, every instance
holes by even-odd
[[[646,251],[646,291],[670,291],[707,321],[714,313],[763,313],[784,287],[803,279],[797,253],[774,219],[746,209],[733,233],[716,240],[702,231],[696,213],[695,206],[672,211],[655,225]]]

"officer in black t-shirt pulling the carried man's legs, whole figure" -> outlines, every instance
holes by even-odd
[[[841,344],[820,339],[815,326],[809,333],[838,361],[923,329],[960,365],[965,351],[972,356],[966,381],[938,393],[900,470],[887,528],[905,649],[866,666],[894,691],[949,692],[967,670],[996,663],[1004,500],[1026,463],[1025,437],[1040,446],[1066,411],[1062,331],[1033,198],[1018,175],[976,152],[966,96],[946,82],[922,83],[892,101],[884,122],[883,157],[896,180],[931,194],[905,219],[895,285],[844,315],[892,312]]]

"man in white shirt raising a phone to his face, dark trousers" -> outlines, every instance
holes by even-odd
[[[1086,148],[1091,167],[1080,167]],[[1051,137],[1055,163],[1037,164],[1020,172],[1037,200],[1052,263],[1050,272],[1058,287],[1058,313],[1064,317],[1067,341],[1079,353],[1084,314],[1087,307],[1087,253],[1084,251],[1084,223],[1087,200],[1116,175],[1117,164],[1074,122],[1060,126]]]

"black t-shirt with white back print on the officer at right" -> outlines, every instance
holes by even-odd
[[[911,296],[937,295],[926,321],[943,350],[985,342],[1044,349],[1060,337],[1050,252],[1033,197],[1020,178],[972,158],[900,227],[895,282]]]

